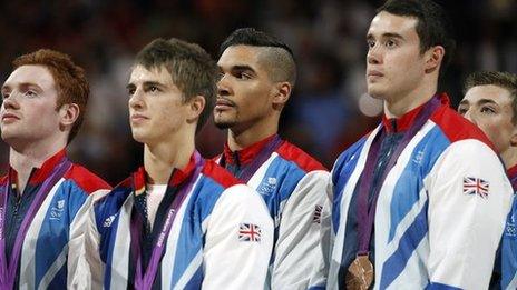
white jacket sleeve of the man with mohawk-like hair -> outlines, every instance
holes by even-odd
[[[330,173],[308,172],[289,197],[280,218],[271,270],[272,289],[323,289],[330,231],[326,192]]]

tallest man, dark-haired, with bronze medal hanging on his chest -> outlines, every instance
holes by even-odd
[[[332,170],[329,288],[486,289],[511,200],[491,143],[437,94],[453,41],[441,7],[389,0],[367,33],[382,123]]]

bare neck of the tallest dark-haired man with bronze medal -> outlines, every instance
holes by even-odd
[[[384,113],[388,119],[400,118],[407,112],[429,101],[437,92],[436,82],[428,82],[408,93],[384,99]],[[431,84],[433,83],[433,84]]]

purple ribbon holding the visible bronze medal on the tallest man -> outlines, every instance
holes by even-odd
[[[373,139],[372,146],[368,153],[367,163],[364,166],[364,170],[361,177],[360,186],[359,186],[359,196],[358,196],[358,229],[359,229],[359,251],[358,256],[368,254],[370,250],[370,240],[373,230],[373,223],[375,220],[375,209],[377,209],[377,200],[379,198],[379,192],[384,183],[384,179],[388,176],[388,172],[393,168],[399,158],[400,153],[402,153],[406,146],[411,141],[411,139],[417,134],[417,132],[422,128],[422,126],[427,122],[427,120],[431,117],[431,114],[440,107],[440,98],[435,96],[430,101],[423,104],[423,108],[418,113],[416,120],[411,124],[411,127],[406,131],[402,137],[402,140],[399,141],[399,144],[394,149],[394,152],[389,157],[388,164],[386,166],[384,170],[381,173],[381,177],[378,181],[375,188],[371,188],[373,183],[373,172],[375,170],[375,166],[379,158],[379,150],[382,143],[382,139],[386,136],[384,129],[381,129],[380,132]],[[368,207],[368,198],[370,192],[372,192],[372,202],[370,208]]]

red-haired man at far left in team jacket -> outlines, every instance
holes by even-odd
[[[47,49],[12,64],[1,88],[10,168],[0,178],[0,289],[85,288],[88,196],[110,188],[66,156],[86,112],[85,71]]]

